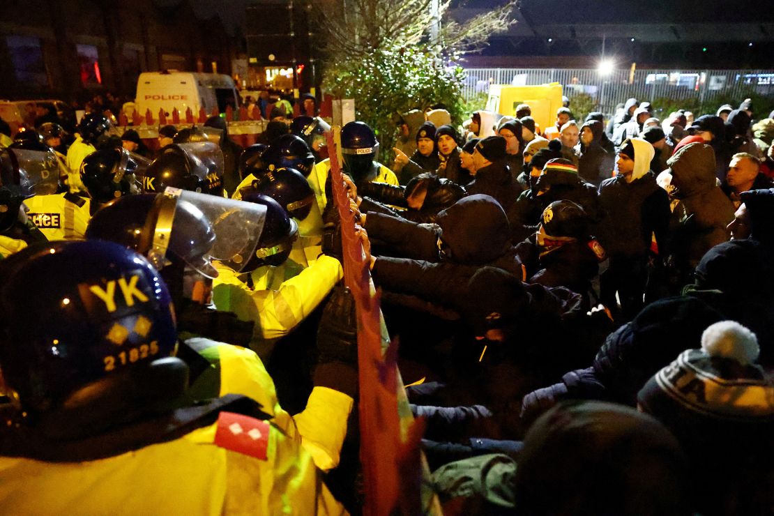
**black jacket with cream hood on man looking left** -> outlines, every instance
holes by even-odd
[[[659,251],[666,247],[666,230],[670,220],[670,200],[656,184],[650,171],[653,146],[640,138],[634,145],[634,171],[627,182],[618,175],[599,185],[599,203],[603,219],[595,234],[611,259],[644,258],[656,234]]]

